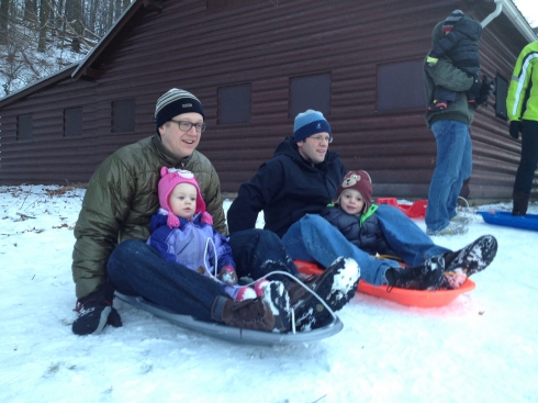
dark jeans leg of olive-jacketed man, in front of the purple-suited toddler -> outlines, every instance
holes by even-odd
[[[112,251],[107,273],[114,289],[126,295],[142,295],[172,312],[211,321],[222,286],[184,266],[165,260],[152,246],[127,239]]]

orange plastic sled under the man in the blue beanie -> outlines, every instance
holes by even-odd
[[[298,270],[305,275],[320,275],[323,272],[316,264],[295,260]],[[392,288],[391,292],[386,291],[386,286],[372,286],[363,280],[359,281],[357,291],[365,294],[382,298],[402,305],[419,306],[419,307],[437,307],[448,305],[450,302],[462,293],[474,290],[477,284],[471,279],[467,279],[463,286],[457,290],[437,290],[437,291],[421,291]]]

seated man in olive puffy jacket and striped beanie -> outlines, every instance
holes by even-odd
[[[166,261],[146,244],[150,217],[159,206],[157,184],[164,166],[195,175],[214,227],[227,234],[218,176],[195,149],[203,120],[202,104],[192,93],[169,90],[157,101],[156,135],[120,148],[91,177],[75,228],[72,277],[79,313],[75,334],[99,334],[107,324],[122,325],[112,307],[114,290],[203,321],[268,332],[290,328],[289,295],[280,282],[271,281],[262,298],[236,302],[213,280]],[[254,256],[262,255],[256,251],[261,244],[251,242]],[[289,257],[282,250],[277,259]],[[310,303],[303,307],[313,310]]]

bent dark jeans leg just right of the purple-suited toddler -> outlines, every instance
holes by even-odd
[[[255,280],[274,271],[299,273],[293,260],[285,251],[282,240],[268,230],[245,230],[229,235],[229,247],[234,256],[237,276]],[[284,280],[285,276],[271,276],[269,280]],[[284,280],[285,281],[285,280]]]

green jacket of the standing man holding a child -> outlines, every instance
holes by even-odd
[[[441,21],[434,27],[431,33],[434,46],[444,35]],[[447,56],[439,57],[439,61],[434,67],[430,67],[424,59],[424,89],[427,103],[434,99],[435,86],[442,86],[446,89],[456,91],[456,100],[449,103],[447,109],[438,112],[426,111],[426,125],[431,127],[431,124],[437,121],[457,121],[470,126],[474,117],[473,111],[477,107],[467,102],[466,91],[471,88],[473,78],[453,67],[452,61]]]

